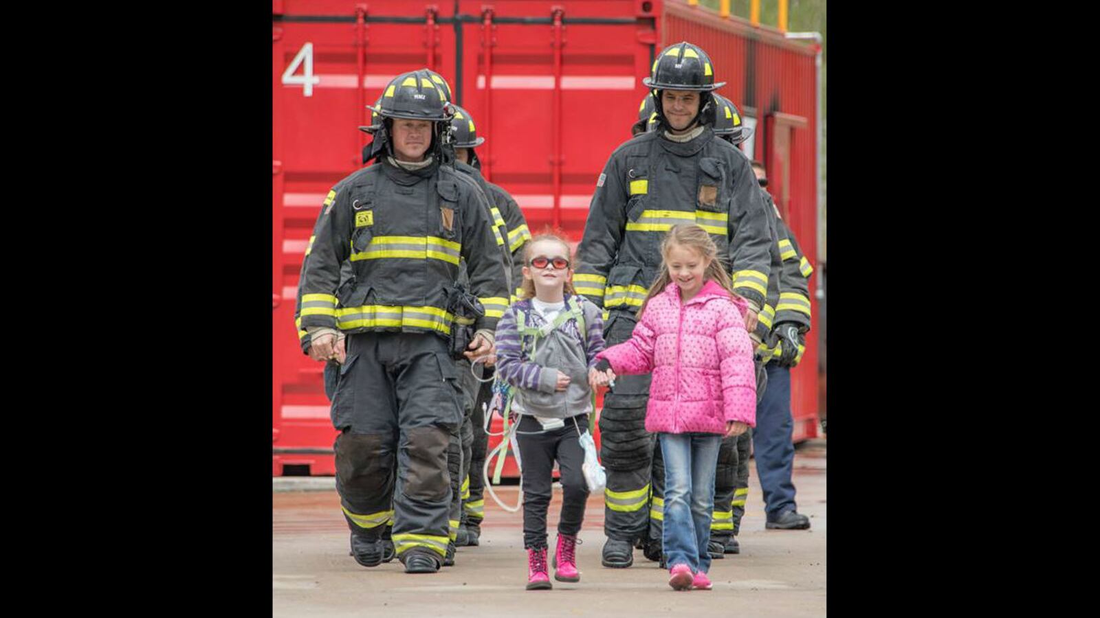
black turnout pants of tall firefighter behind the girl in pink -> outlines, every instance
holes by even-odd
[[[632,314],[612,311],[604,331],[607,345],[630,339],[634,325]],[[617,376],[600,415],[600,459],[607,472],[604,534],[631,544],[648,533],[653,482],[664,484],[663,471],[653,473],[656,437],[646,431],[649,383],[649,375]]]

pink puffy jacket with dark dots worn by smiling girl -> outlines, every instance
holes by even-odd
[[[607,358],[616,374],[652,372],[648,431],[725,433],[732,420],[756,427],[746,312],[744,299],[730,298],[713,280],[686,304],[672,283],[649,300],[629,340],[596,357]]]

